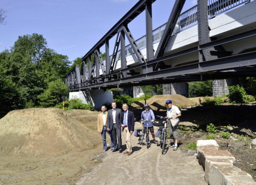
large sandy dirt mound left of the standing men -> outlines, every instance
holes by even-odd
[[[78,112],[95,115],[91,111]],[[100,135],[72,114],[74,111],[58,108],[9,112],[0,119],[0,156],[56,156],[92,149],[101,143]]]

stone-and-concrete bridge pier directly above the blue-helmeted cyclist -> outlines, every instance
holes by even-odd
[[[163,94],[180,94],[188,97],[188,83],[163,84]]]

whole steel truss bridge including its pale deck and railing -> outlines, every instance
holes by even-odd
[[[251,48],[236,54],[225,50],[224,47],[255,38],[255,27],[240,29],[228,36],[215,37],[210,36],[208,24],[211,19],[217,19],[217,16],[223,12],[252,3],[250,0],[198,0],[196,6],[182,14],[185,0],[176,0],[168,22],[155,30],[152,30],[153,2],[155,0],[139,0],[85,54],[82,58],[81,70],[76,65],[65,75],[65,82],[68,83],[70,91],[256,75],[256,43]],[[146,35],[135,41],[128,29],[128,23],[144,10]],[[170,39],[193,26],[194,28],[197,26],[198,41],[168,52]],[[110,56],[109,39],[114,36],[116,42],[113,54]],[[125,38],[130,43],[128,46],[125,46]],[[155,43],[158,45],[154,45]],[[104,45],[106,58],[102,60],[99,48]],[[142,50],[145,48],[146,55],[143,55]],[[196,54],[196,59],[192,57],[190,61],[182,62],[182,58],[190,58],[192,54]],[[132,55],[133,62],[128,64],[126,57],[129,55]],[[171,61],[174,60],[179,60],[180,63],[172,65]]]

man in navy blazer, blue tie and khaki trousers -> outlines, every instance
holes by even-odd
[[[123,103],[123,111],[121,115],[123,135],[126,137],[126,151],[123,154],[132,154],[132,140],[131,136],[134,131],[134,114],[128,111],[128,105]]]

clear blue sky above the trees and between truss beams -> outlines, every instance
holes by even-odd
[[[0,25],[0,52],[10,49],[18,36],[42,34],[48,48],[72,61],[84,56],[138,0],[0,0],[6,24]],[[196,5],[186,0],[182,12]],[[174,0],[152,4],[153,29],[167,22]],[[145,12],[128,27],[135,39],[145,35]],[[113,52],[115,37],[110,40]],[[128,41],[126,40],[126,45]],[[104,52],[104,48],[102,48]]]

